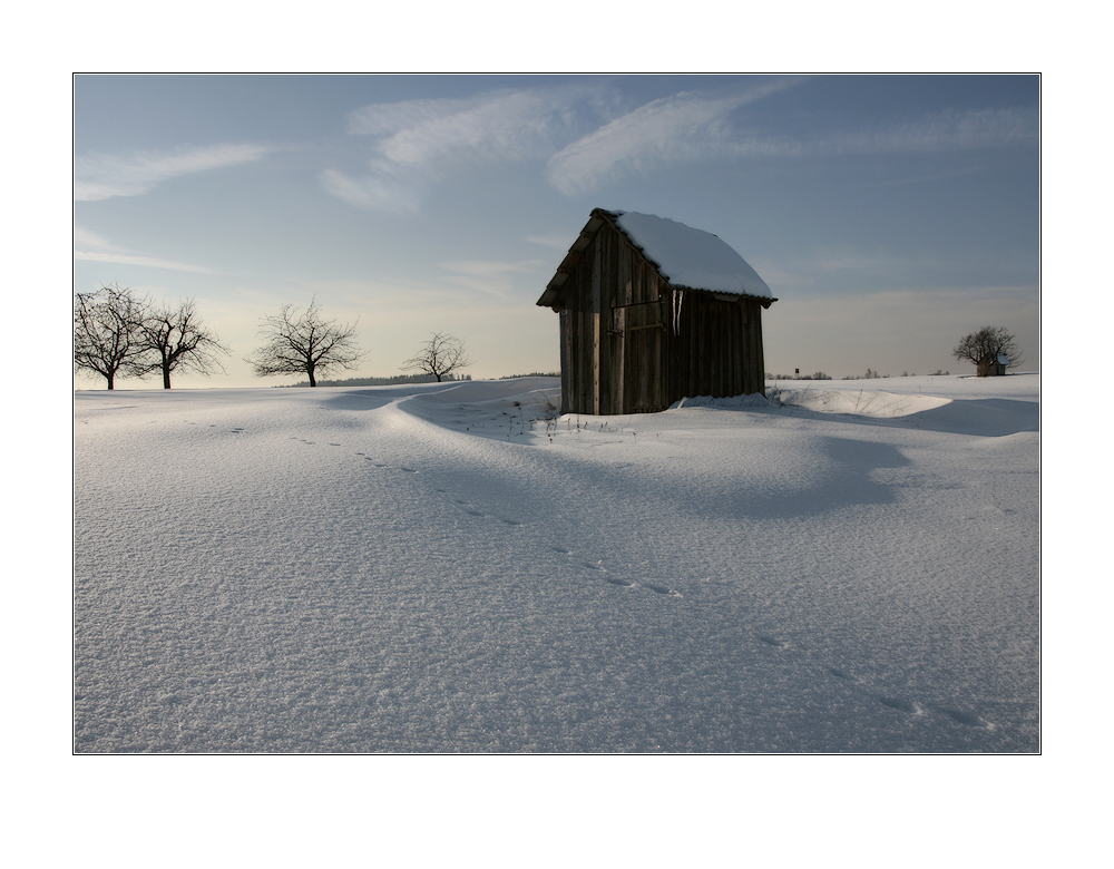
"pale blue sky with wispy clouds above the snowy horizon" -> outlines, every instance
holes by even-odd
[[[339,377],[433,331],[556,370],[535,302],[596,206],[739,251],[772,372],[970,373],[988,324],[1039,369],[1036,76],[82,75],[74,119],[75,291],[194,297],[233,350],[176,387],[293,382],[242,358],[314,296],[369,350]]]

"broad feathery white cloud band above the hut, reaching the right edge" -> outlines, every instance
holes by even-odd
[[[550,185],[577,196],[617,178],[701,160],[969,150],[1038,137],[1029,109],[941,113],[814,134],[759,129],[758,116],[741,111],[808,80],[685,91],[635,108],[628,96],[596,84],[365,106],[346,121],[350,136],[369,143],[367,168],[330,168],[320,179],[359,207],[412,213],[432,185],[483,164],[536,162]]]

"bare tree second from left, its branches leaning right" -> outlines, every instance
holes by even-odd
[[[179,302],[177,307],[164,303],[149,309],[143,318],[140,349],[144,357],[139,375],[158,371],[163,389],[170,388],[170,373],[178,369],[205,377],[224,371],[216,354],[231,352],[202,325],[193,299]]]

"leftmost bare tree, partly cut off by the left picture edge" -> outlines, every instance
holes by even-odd
[[[101,286],[78,293],[74,309],[74,364],[99,374],[116,388],[116,377],[137,374],[143,353],[141,324],[146,301],[127,287]]]

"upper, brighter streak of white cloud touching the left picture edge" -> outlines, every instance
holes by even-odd
[[[79,157],[74,166],[74,198],[97,202],[139,196],[169,178],[252,163],[271,150],[268,145],[241,144]]]

